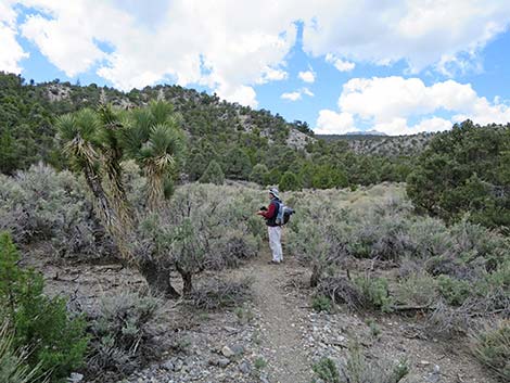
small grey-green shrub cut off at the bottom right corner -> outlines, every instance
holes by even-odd
[[[510,321],[473,335],[474,356],[502,382],[510,381]]]

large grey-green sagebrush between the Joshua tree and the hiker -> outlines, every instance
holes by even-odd
[[[140,220],[132,241],[137,254],[161,269],[176,269],[184,293],[191,293],[193,275],[257,254],[264,222],[250,219],[258,209],[255,193],[200,183],[178,188],[168,205]]]

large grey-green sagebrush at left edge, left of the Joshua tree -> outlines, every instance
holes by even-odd
[[[59,256],[99,257],[112,248],[82,182],[39,164],[0,179],[0,230],[16,243],[47,241]]]

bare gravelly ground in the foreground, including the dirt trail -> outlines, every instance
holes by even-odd
[[[311,383],[317,378],[313,365],[324,357],[337,365],[345,361],[353,341],[362,346],[371,365],[407,359],[410,373],[400,383],[497,382],[469,354],[466,341],[435,339],[419,318],[361,316],[343,306],[332,314],[314,311],[308,270],[292,258],[282,265],[268,265],[269,259],[263,253],[239,269],[201,276],[204,280],[250,278],[252,298],[218,311],[168,301],[152,340],[161,349],[160,359],[124,379],[112,373],[88,382]],[[90,297],[91,304],[104,292],[115,294],[143,284],[135,271],[115,265],[42,268],[52,292],[71,291]]]

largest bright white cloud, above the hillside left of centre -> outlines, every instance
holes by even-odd
[[[169,79],[206,85],[252,106],[257,102],[251,85],[288,77],[282,66],[296,35],[293,18],[282,17],[292,4],[269,0],[158,1],[160,14],[143,20],[127,12],[138,7],[129,2],[23,2],[43,11],[21,25],[24,36],[68,76],[99,65],[98,74],[124,90]],[[253,17],[260,10],[265,17]]]

